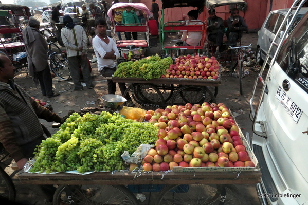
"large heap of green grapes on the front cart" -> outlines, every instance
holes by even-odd
[[[142,143],[154,144],[157,133],[158,128],[151,123],[135,122],[116,113],[74,113],[37,147],[30,172],[123,170],[121,154],[133,154]]]

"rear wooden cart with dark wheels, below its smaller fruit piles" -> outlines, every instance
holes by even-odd
[[[145,107],[166,107],[166,105],[202,104],[216,102],[218,80],[204,79],[151,79],[112,78],[113,82],[129,83],[124,97],[130,95],[138,104]]]

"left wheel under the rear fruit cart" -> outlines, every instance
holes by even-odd
[[[134,95],[136,99],[139,101],[137,102],[143,106],[159,106],[165,103],[165,98],[162,96],[159,89],[152,84],[133,84],[134,87]]]

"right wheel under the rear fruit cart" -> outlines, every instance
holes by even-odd
[[[175,92],[171,102],[173,105],[185,105],[186,103],[202,104],[204,102],[216,103],[216,99],[205,86],[185,85]]]

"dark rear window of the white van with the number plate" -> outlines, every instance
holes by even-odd
[[[285,73],[308,92],[308,13],[294,27],[277,56]]]

